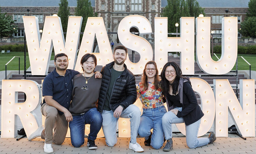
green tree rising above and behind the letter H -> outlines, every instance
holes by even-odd
[[[181,17],[198,17],[199,14],[204,14],[204,9],[196,0],[167,0],[167,2],[162,17],[168,17],[169,33],[176,32],[175,23],[179,23]]]

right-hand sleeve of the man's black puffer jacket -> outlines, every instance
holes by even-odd
[[[136,82],[134,75],[129,75],[126,88],[127,97],[123,100],[120,105],[126,109],[129,105],[133,104],[137,98]]]

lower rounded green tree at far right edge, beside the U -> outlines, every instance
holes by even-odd
[[[241,22],[241,30],[239,30],[239,32],[243,36],[256,38],[256,16],[247,17],[243,22]]]

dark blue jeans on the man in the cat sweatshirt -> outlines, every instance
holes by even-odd
[[[97,108],[89,109],[85,114],[73,116],[73,121],[69,122],[71,143],[78,148],[84,144],[85,124],[90,124],[89,140],[95,140],[102,125],[102,116]]]

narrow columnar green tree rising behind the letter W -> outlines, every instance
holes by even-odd
[[[70,16],[70,7],[68,6],[68,0],[60,0],[58,16],[61,19],[63,32],[67,32],[68,19]]]

